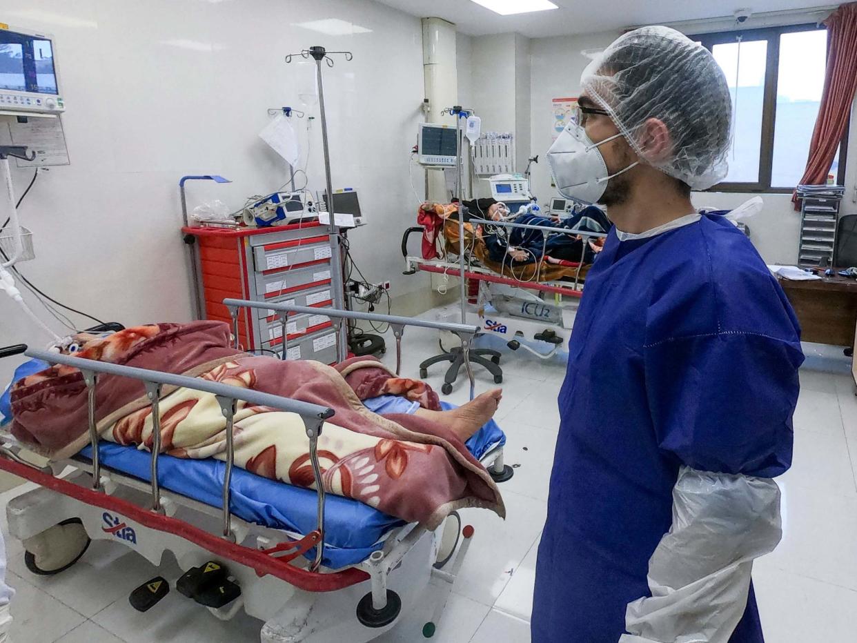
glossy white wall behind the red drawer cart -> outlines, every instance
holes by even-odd
[[[21,272],[48,294],[126,324],[188,320],[178,179],[234,181],[189,183],[191,208],[219,198],[235,209],[284,182],[285,164],[257,133],[267,107],[299,106],[300,72],[283,58],[310,45],[354,52],[324,68],[334,187],[357,188],[369,219],[351,234],[354,255],[367,278],[393,281],[393,295],[427,286],[401,275],[398,256],[415,212],[407,159],[422,116],[417,17],[369,0],[0,0],[0,15],[56,37],[71,165],[41,174],[21,207],[38,255]],[[371,31],[333,37],[298,26],[331,16]],[[317,106],[309,112],[317,117]],[[318,118],[311,127],[316,190]],[[19,193],[31,174],[15,171]],[[0,297],[0,346],[43,344]],[[12,360],[3,361],[0,376]]]

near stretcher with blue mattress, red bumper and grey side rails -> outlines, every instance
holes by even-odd
[[[284,323],[287,315],[301,312],[301,307],[287,304],[227,300],[225,305],[233,320],[243,306],[274,309]],[[468,350],[476,333],[476,328],[461,324],[335,309],[325,313],[335,323],[369,318],[390,323],[397,339],[398,364],[407,326],[458,334],[462,350]],[[143,609],[148,609],[163,598],[156,595],[164,594],[175,581],[179,592],[204,605],[213,616],[227,620],[243,610],[260,619],[263,642],[360,643],[394,628],[403,612],[409,614],[429,601],[433,616],[422,633],[412,633],[412,638],[434,634],[474,530],[463,527],[456,513],[429,532],[363,503],[328,496],[321,485],[317,442],[332,409],[200,378],[53,352],[27,349],[25,354],[81,370],[87,384],[90,437],[87,448],[72,459],[38,466],[27,460],[27,452],[14,438],[3,436],[0,468],[39,485],[7,505],[9,532],[24,544],[27,567],[33,572],[62,572],[84,555],[91,539],[110,540],[154,565],[169,551],[185,572],[178,580],[156,578],[143,583],[130,597],[138,609],[141,603],[135,604],[135,596],[139,599],[140,592],[144,598],[147,592],[153,595],[142,602]],[[159,418],[165,386],[215,395],[226,418],[225,463],[159,454],[159,420],[155,420],[151,454],[99,443],[95,391],[103,374],[143,382],[153,418]],[[232,418],[237,400],[302,418],[315,490],[233,471]],[[482,430],[468,446],[489,472],[500,476],[498,472],[507,468],[502,458],[504,443],[501,431]],[[216,577],[212,582],[219,593],[200,589],[209,573]]]

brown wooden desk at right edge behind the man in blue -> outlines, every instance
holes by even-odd
[[[857,280],[839,275],[810,281],[777,279],[798,315],[801,340],[852,348],[857,344]],[[857,382],[857,360],[853,375]]]

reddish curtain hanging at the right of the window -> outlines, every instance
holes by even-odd
[[[842,141],[854,93],[857,93],[857,3],[842,4],[824,21],[827,27],[827,68],[824,92],[818,107],[818,118],[812,130],[806,171],[802,185],[827,182],[830,164]],[[794,209],[800,210],[800,199],[792,195]]]

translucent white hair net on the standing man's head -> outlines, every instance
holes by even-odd
[[[580,87],[608,111],[639,158],[692,189],[728,171],[732,99],[710,51],[668,27],[625,33],[584,69]],[[671,151],[653,158],[641,140],[650,118],[666,124]]]

